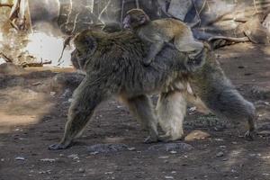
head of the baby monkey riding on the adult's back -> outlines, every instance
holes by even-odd
[[[126,17],[123,20],[123,27],[125,29],[136,29],[141,25],[150,22],[148,14],[141,9],[131,9],[127,12]]]

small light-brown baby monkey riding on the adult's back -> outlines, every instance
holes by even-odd
[[[150,42],[148,56],[143,60],[146,66],[157,56],[164,43],[169,43],[171,40],[175,48],[186,52],[190,59],[196,58],[203,49],[203,43],[194,40],[193,32],[185,23],[172,18],[151,21],[141,9],[128,11],[123,26],[125,29],[135,31],[141,40]]]

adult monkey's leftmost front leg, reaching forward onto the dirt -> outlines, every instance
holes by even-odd
[[[73,139],[80,136],[91,119],[95,107],[105,98],[104,94],[106,92],[100,89],[100,84],[94,84],[85,77],[73,94],[74,100],[68,110],[64,137],[58,144],[49,146],[50,150],[67,148]]]

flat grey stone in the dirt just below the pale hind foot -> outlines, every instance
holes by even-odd
[[[165,143],[165,144],[157,144],[150,146],[148,150],[161,150],[161,151],[167,151],[167,152],[172,152],[172,151],[190,151],[193,149],[193,146],[183,143],[183,142],[177,142],[177,143]]]

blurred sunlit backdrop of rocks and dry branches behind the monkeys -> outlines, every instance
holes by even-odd
[[[85,29],[121,31],[132,8],[152,20],[172,17],[213,48],[243,41],[269,44],[270,0],[1,0],[0,63],[70,66],[70,49],[58,65],[67,35]]]

